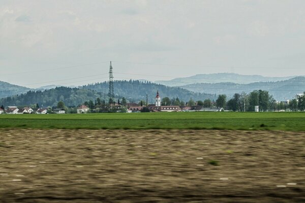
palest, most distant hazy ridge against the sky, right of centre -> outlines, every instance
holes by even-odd
[[[194,83],[221,83],[231,82],[237,84],[249,84],[253,82],[276,82],[294,78],[288,77],[264,77],[260,75],[240,75],[236,73],[198,74],[186,78],[175,78],[168,81],[155,81],[157,84],[168,86],[183,86]]]

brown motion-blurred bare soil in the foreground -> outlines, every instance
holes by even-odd
[[[305,132],[0,129],[0,202],[305,202]]]

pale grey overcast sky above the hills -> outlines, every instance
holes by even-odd
[[[304,0],[0,0],[0,80],[305,75]],[[104,75],[103,75],[104,74]]]

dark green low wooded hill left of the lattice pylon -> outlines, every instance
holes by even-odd
[[[100,97],[102,100],[107,99],[105,93],[99,93],[95,90],[56,87],[45,91],[28,91],[25,94],[9,96],[0,99],[0,105],[4,106],[23,106],[35,105],[40,107],[56,106],[58,101],[62,100],[66,106],[78,106],[84,101],[93,100]]]

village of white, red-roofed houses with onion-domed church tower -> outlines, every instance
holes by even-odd
[[[155,97],[155,104],[141,105],[139,103],[126,103],[125,105],[121,103],[115,103],[110,106],[114,111],[112,112],[126,112],[126,113],[140,113],[140,112],[222,112],[224,108],[220,107],[204,107],[198,103],[188,106],[178,106],[178,105],[162,105],[162,99],[157,90],[157,95]],[[118,101],[119,102],[119,101]],[[85,103],[86,104],[86,103]],[[75,113],[84,114],[84,113],[99,113],[101,111],[96,109],[90,109],[88,105],[82,104],[76,108]],[[58,107],[58,106],[57,106]],[[107,107],[104,107],[107,109]],[[23,107],[18,108],[16,106],[8,106],[6,108],[0,108],[0,114],[67,114],[68,111],[66,108],[32,108],[32,107]]]

